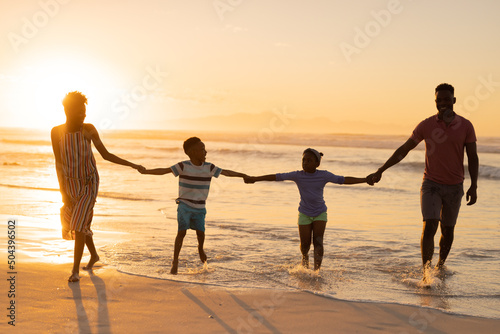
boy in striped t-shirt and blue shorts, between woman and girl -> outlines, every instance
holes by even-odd
[[[206,162],[205,158],[207,151],[205,144],[198,137],[188,138],[183,145],[184,152],[189,157],[189,160],[179,162],[170,168],[156,168],[140,170],[142,174],[164,175],[168,173],[179,176],[179,197],[176,202],[179,205],[177,208],[177,222],[179,228],[175,238],[174,259],[172,260],[171,274],[177,274],[179,265],[179,253],[181,251],[182,242],[186,236],[187,229],[196,230],[198,238],[198,252],[201,262],[207,261],[207,255],[203,250],[205,242],[205,201],[208,197],[210,189],[210,181],[212,177],[219,177],[220,174],[230,177],[245,177],[247,175],[223,170],[215,165]]]

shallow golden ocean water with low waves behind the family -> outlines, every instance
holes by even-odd
[[[205,142],[207,161],[223,169],[249,175],[299,170],[302,151],[313,147],[324,153],[319,169],[356,177],[374,172],[407,139],[139,130],[106,131],[101,139],[110,152],[156,168],[186,160],[182,142],[192,135]],[[328,298],[418,305],[499,319],[500,138],[479,137],[478,151],[478,202],[466,206],[464,197],[445,276],[430,289],[415,283],[422,276],[422,144],[373,187],[326,186],[329,221],[319,273],[300,266],[299,194],[294,183],[249,185],[240,178],[220,176],[212,179],[207,201],[208,265],[199,260],[196,234],[188,231],[179,275],[171,275],[178,179],[172,174],[141,175],[104,161],[97,152],[101,183],[94,240],[102,263],[133,275],[231,288],[302,290]],[[70,263],[72,242],[45,236],[59,233],[62,205],[50,131],[0,129],[0,170],[0,216],[19,217],[22,256]],[[470,185],[467,171],[466,175],[465,191]],[[23,243],[23,234],[38,242]],[[87,257],[86,251],[82,263]]]

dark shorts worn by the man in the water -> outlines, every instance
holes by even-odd
[[[464,196],[462,183],[439,184],[424,179],[420,190],[420,205],[424,221],[440,220],[443,226],[455,226]]]

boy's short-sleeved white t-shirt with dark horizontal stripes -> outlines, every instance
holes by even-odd
[[[179,198],[177,201],[193,208],[205,208],[210,181],[212,177],[219,177],[222,169],[209,162],[195,166],[189,160],[179,162],[170,168],[175,176],[179,176]]]

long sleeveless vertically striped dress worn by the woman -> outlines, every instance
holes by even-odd
[[[90,140],[83,131],[64,133],[59,142],[64,190],[71,203],[61,208],[62,236],[75,238],[74,232],[92,235],[90,224],[99,189],[99,174]]]

